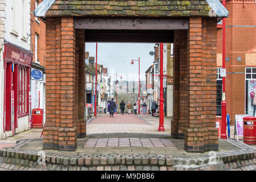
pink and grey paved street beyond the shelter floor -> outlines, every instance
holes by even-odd
[[[158,131],[159,118],[148,114],[114,114],[113,118],[108,114],[98,114],[87,123],[86,134],[90,136],[109,133],[144,133],[170,136],[170,121],[171,118],[164,118],[165,131]]]

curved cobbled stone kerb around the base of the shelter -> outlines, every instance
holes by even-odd
[[[241,150],[217,152],[197,157],[166,155],[72,155],[64,152],[22,150],[33,139],[22,140],[16,146],[0,150],[0,164],[8,163],[40,170],[229,170],[252,167],[256,164],[256,150],[245,144]],[[234,142],[232,142],[234,144]],[[42,155],[43,154],[43,155]],[[44,160],[45,159],[45,160]],[[256,168],[255,168],[256,169]]]

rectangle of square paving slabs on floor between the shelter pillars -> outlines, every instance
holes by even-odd
[[[90,138],[84,148],[94,147],[160,147],[177,148],[169,139],[159,138]]]

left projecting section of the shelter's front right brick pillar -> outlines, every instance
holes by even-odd
[[[202,18],[189,18],[188,30],[188,125],[185,129],[185,150],[204,152],[204,129],[202,128],[202,91],[206,82],[202,67]]]

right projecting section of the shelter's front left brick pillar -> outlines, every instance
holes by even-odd
[[[61,70],[60,70],[60,128],[59,151],[76,150],[76,126],[78,119],[77,69],[75,57],[74,18],[61,19]]]

